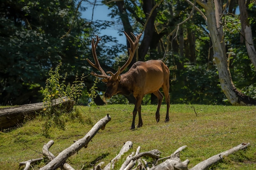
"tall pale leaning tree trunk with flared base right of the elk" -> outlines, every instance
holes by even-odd
[[[232,105],[256,105],[256,100],[239,92],[231,79],[227,65],[225,40],[222,37],[223,29],[216,24],[219,23],[219,20],[216,21],[216,16],[219,16],[218,4],[215,9],[213,0],[197,0],[197,2],[204,8],[207,16],[207,26],[213,43],[213,58],[218,68],[222,91]]]

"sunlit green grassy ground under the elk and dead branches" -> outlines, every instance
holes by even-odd
[[[110,114],[112,120],[79,153],[68,159],[70,165],[80,170],[90,169],[98,161],[107,164],[118,153],[126,141],[133,142],[133,148],[117,163],[119,169],[126,156],[141,146],[141,152],[158,149],[161,157],[171,155],[180,146],[182,161],[189,159],[189,168],[213,155],[228,150],[242,142],[249,142],[249,148],[238,151],[212,170],[255,170],[256,169],[256,107],[235,107],[218,105],[171,105],[170,122],[164,123],[166,105],[160,109],[160,122],[155,121],[156,105],[142,106],[144,125],[131,131],[134,105],[105,105],[82,107],[65,115],[65,130],[51,127],[50,137],[42,135],[40,116],[27,121],[22,127],[0,132],[0,169],[14,170],[20,161],[42,157],[43,144],[50,139],[54,145],[50,151],[57,156],[74,140],[82,138],[101,118]],[[138,116],[135,121],[137,125]],[[97,164],[97,163],[96,163]],[[33,165],[39,169],[44,162]],[[32,169],[32,168],[31,168]]]

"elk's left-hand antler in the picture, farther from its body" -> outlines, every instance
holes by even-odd
[[[96,77],[100,77],[100,78],[106,78],[108,79],[110,76],[108,76],[104,70],[101,68],[101,65],[99,64],[99,60],[98,60],[98,57],[97,57],[97,54],[96,54],[96,47],[99,43],[99,40],[101,40],[98,35],[97,35],[97,41],[96,43],[94,44],[94,38],[92,39],[92,55],[93,55],[93,58],[94,58],[94,61],[95,61],[95,64],[92,63],[89,59],[86,59],[88,61],[88,63],[90,65],[92,65],[92,67],[96,68],[97,70],[99,70],[99,72],[101,72],[101,74],[97,74],[95,72],[91,72],[90,74],[92,74],[93,76],[96,76]]]

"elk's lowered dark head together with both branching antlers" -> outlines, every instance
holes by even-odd
[[[104,83],[107,84],[107,89],[106,89],[106,92],[105,92],[105,97],[106,98],[111,98],[113,95],[118,93],[118,87],[119,87],[119,83],[120,83],[120,80],[121,80],[121,75],[120,74],[131,63],[132,58],[133,58],[133,56],[135,54],[135,51],[137,49],[137,46],[139,44],[139,39],[142,35],[140,33],[139,35],[135,36],[133,33],[131,33],[132,37],[134,37],[134,39],[135,39],[135,41],[132,41],[132,39],[128,36],[128,34],[126,32],[124,32],[124,34],[125,34],[126,38],[128,39],[128,41],[130,43],[130,48],[128,48],[129,58],[122,67],[118,66],[118,70],[115,74],[110,72],[110,71],[105,72],[99,64],[99,60],[98,60],[98,57],[97,57],[97,54],[96,54],[96,47],[97,47],[97,45],[98,45],[98,43],[101,39],[98,36],[96,37],[96,43],[95,44],[94,44],[94,38],[92,39],[92,55],[93,55],[95,64],[92,63],[89,59],[86,59],[88,61],[88,63],[90,63],[90,65],[92,65],[92,67],[96,68],[99,72],[101,72],[101,74],[97,74],[97,73],[92,71],[90,74],[92,74],[93,76],[102,78],[101,81],[103,81]],[[110,75],[108,75],[108,74],[110,74]]]

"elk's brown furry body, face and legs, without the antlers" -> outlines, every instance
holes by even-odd
[[[145,94],[153,93],[157,96],[158,106],[155,118],[157,122],[159,122],[159,110],[163,99],[163,95],[159,89],[162,87],[167,105],[165,122],[168,122],[170,107],[169,76],[170,71],[161,60],[138,61],[132,65],[128,72],[121,74],[119,80],[112,77],[103,80],[107,82],[105,97],[111,98],[115,94],[133,94],[136,98],[136,103],[132,112],[133,119],[131,129],[135,129],[135,117],[137,112],[139,113],[139,123],[137,127],[143,125],[141,119],[141,101]]]

